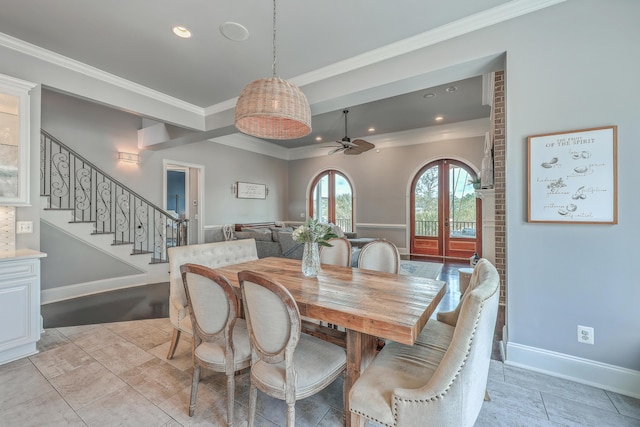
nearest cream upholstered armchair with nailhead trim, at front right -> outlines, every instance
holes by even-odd
[[[351,388],[351,412],[390,427],[474,425],[485,397],[500,295],[500,278],[489,261],[481,259],[474,274],[475,286],[465,292],[453,325],[433,321],[444,327],[442,333],[428,323],[413,346],[392,342],[382,349]]]

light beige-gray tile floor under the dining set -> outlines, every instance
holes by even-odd
[[[39,353],[0,366],[0,426],[225,426],[224,376],[205,373],[188,416],[189,341],[166,360],[168,319],[47,330]],[[246,425],[249,375],[236,377]],[[640,426],[640,401],[492,360],[476,426]],[[342,381],[296,404],[296,425],[342,425]],[[283,426],[283,402],[258,393],[258,426]],[[371,425],[371,423],[370,423]]]

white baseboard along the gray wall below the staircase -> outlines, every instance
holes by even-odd
[[[132,276],[114,277],[112,279],[96,280],[93,282],[60,286],[58,288],[43,289],[40,291],[40,304],[50,304],[52,302],[84,297],[100,292],[115,291],[116,289],[132,288],[147,284],[146,274],[135,274]]]

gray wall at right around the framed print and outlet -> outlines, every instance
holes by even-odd
[[[500,37],[508,52],[509,340],[634,370],[639,16],[637,1],[570,1],[505,25]],[[618,125],[618,224],[527,223],[526,137],[606,125]],[[595,329],[595,345],[578,343],[577,325]]]

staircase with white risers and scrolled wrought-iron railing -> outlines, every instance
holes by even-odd
[[[44,130],[40,195],[42,221],[141,271],[130,279],[141,283],[124,286],[168,281],[167,249],[187,243],[186,220],[174,218]],[[121,282],[115,287],[123,287]]]

